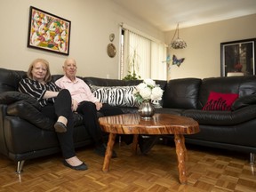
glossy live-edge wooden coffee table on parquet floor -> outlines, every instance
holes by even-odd
[[[104,116],[99,118],[101,129],[109,132],[108,146],[102,167],[103,172],[108,172],[116,134],[134,134],[132,148],[137,151],[139,134],[174,134],[180,183],[187,183],[185,160],[187,149],[184,134],[199,132],[198,123],[189,117],[170,114],[155,114],[151,119],[144,120],[138,114],[124,114],[118,116]]]

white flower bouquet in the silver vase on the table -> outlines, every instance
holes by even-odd
[[[135,100],[141,104],[144,100],[162,100],[163,90],[152,79],[145,79],[133,92]]]

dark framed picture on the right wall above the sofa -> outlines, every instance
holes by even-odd
[[[256,38],[220,43],[221,76],[255,75]]]

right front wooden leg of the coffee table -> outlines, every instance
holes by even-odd
[[[176,154],[178,157],[178,169],[180,174],[180,183],[187,183],[187,172],[185,159],[187,158],[187,149],[185,148],[185,139],[182,134],[174,134],[174,141],[176,146]]]

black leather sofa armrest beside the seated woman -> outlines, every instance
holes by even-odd
[[[35,124],[36,127],[53,131],[53,120],[47,116],[44,116],[38,108],[29,103],[27,100],[19,100],[7,108],[8,116],[19,116],[22,119],[27,120],[31,124]]]

